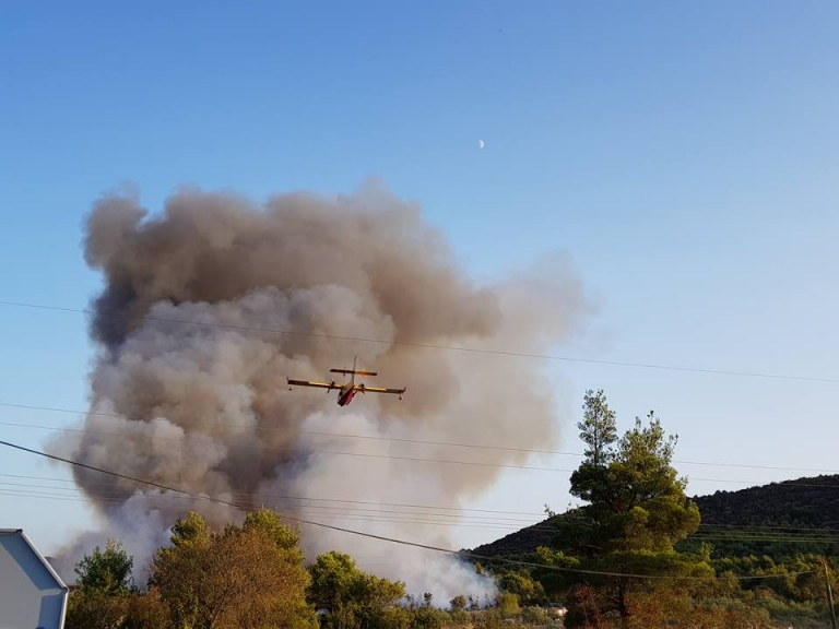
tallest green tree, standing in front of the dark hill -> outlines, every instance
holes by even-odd
[[[602,410],[601,401],[605,403],[602,391],[593,396],[589,392],[583,406]],[[601,426],[614,425],[611,412],[595,416],[603,418]],[[676,579],[710,577],[713,571],[702,558],[674,550],[699,526],[699,510],[685,495],[687,482],[672,466],[677,437],[665,434],[653,412],[646,424],[636,418],[621,439],[603,439],[611,432],[600,430],[595,442],[592,435],[582,436],[589,450],[571,475],[571,495],[587,503],[567,514],[557,546],[577,557],[583,570],[613,573],[607,578],[578,574],[568,583],[583,586],[586,605],[595,604],[601,614],[617,612],[628,626],[630,597],[649,593],[661,580],[627,574]],[[572,609],[568,625],[577,620]]]

